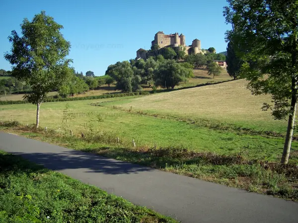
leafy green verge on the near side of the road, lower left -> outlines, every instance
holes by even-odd
[[[174,222],[0,151],[0,222]]]

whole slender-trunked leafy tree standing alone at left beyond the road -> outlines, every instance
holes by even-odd
[[[63,26],[56,23],[45,11],[27,18],[21,24],[22,36],[15,30],[8,37],[11,52],[4,57],[12,65],[12,75],[31,86],[32,92],[24,96],[37,106],[36,127],[39,126],[40,105],[53,89],[68,81],[72,70],[67,59],[71,44],[63,38]]]

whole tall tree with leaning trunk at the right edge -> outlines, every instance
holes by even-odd
[[[244,61],[243,74],[255,95],[271,94],[275,119],[288,116],[281,163],[289,161],[298,99],[298,3],[296,0],[227,0],[226,41]],[[265,77],[265,74],[267,76]]]

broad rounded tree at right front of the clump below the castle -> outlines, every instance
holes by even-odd
[[[155,70],[154,80],[156,86],[174,89],[176,85],[186,81],[189,69],[181,66],[175,60],[167,59]]]

